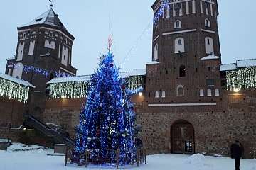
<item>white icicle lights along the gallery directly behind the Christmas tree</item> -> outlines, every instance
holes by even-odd
[[[127,89],[135,90],[144,86],[143,76],[132,76],[125,79]],[[85,98],[90,87],[90,81],[73,81],[50,84],[50,99]]]

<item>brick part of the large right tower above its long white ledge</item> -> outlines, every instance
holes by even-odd
[[[152,8],[149,106],[215,105],[221,95],[217,1],[157,0]]]

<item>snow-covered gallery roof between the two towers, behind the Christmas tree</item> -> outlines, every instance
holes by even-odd
[[[146,69],[134,69],[132,72],[120,73],[120,77],[122,78],[127,78],[132,76],[144,76],[144,75],[146,75]],[[57,83],[76,82],[76,81],[90,81],[90,75],[54,78],[48,81],[47,84],[57,84]]]

